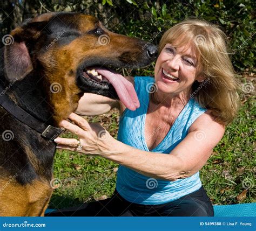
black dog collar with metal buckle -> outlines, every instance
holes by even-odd
[[[42,121],[37,120],[37,118],[31,116],[24,109],[19,107],[14,101],[12,101],[7,95],[5,95],[6,89],[0,85],[0,105],[8,111],[12,116],[17,118],[17,120],[28,125],[33,130],[36,130],[44,138],[53,139],[57,138],[64,129],[56,128],[49,124],[45,124]]]

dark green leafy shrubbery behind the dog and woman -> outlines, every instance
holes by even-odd
[[[49,11],[78,11],[95,15],[110,30],[158,44],[161,35],[174,24],[198,17],[218,24],[230,39],[235,71],[242,72],[255,65],[255,13],[253,0],[45,0],[0,3],[2,34],[14,29],[14,22]],[[19,10],[17,10],[19,9]],[[2,14],[2,15],[1,15]],[[8,15],[8,17],[6,17]],[[11,18],[12,17],[12,18]],[[157,37],[153,33],[161,32]],[[152,71],[152,68],[151,68]],[[137,72],[138,74],[138,72]],[[140,71],[140,74],[145,74]],[[151,72],[152,74],[152,72]]]

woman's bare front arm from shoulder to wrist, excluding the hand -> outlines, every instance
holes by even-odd
[[[145,176],[174,181],[198,172],[210,158],[224,132],[223,125],[203,114],[169,155],[138,150],[118,142],[112,145],[110,153],[102,156]]]

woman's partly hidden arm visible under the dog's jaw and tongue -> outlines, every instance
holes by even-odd
[[[134,86],[134,79],[131,76],[125,76]],[[125,110],[125,106],[119,100],[113,100],[98,94],[84,93],[78,102],[78,107],[75,111],[78,115],[96,116],[109,112],[113,108],[118,108],[120,114]]]

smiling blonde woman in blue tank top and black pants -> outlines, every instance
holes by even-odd
[[[127,79],[138,94],[136,110],[99,95],[82,97],[77,109],[96,115],[119,108],[118,141],[76,114],[70,115],[76,125],[60,125],[79,139],[55,140],[57,148],[119,163],[114,195],[52,215],[213,216],[199,170],[239,108],[225,34],[207,22],[185,20],[161,38],[154,79]]]

